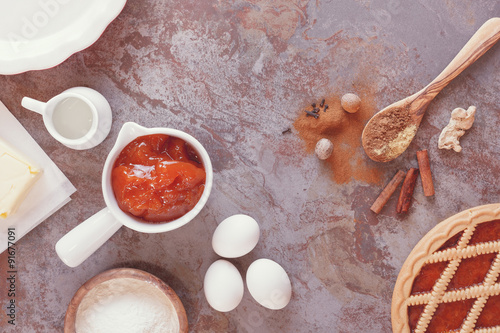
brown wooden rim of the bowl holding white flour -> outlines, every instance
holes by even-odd
[[[75,324],[78,307],[80,306],[82,299],[90,290],[92,290],[100,283],[120,278],[137,279],[150,283],[151,285],[157,287],[170,300],[170,302],[172,302],[173,308],[175,309],[177,318],[179,320],[179,333],[188,332],[186,310],[184,309],[181,300],[172,288],[170,288],[165,282],[163,282],[156,276],[145,271],[134,268],[116,268],[94,276],[93,278],[85,282],[80,287],[80,289],[78,289],[68,305],[68,310],[66,310],[66,316],[64,318],[64,333],[76,333]]]

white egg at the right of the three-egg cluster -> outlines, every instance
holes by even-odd
[[[250,295],[262,306],[279,310],[292,297],[292,284],[283,267],[269,259],[255,260],[246,277]]]

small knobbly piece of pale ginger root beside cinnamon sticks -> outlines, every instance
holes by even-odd
[[[458,140],[465,134],[466,130],[472,127],[475,113],[475,106],[470,106],[467,110],[462,108],[453,110],[450,122],[443,128],[441,135],[439,135],[438,148],[453,149],[457,153],[461,152],[462,147]]]

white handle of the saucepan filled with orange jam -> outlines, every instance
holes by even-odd
[[[69,267],[76,267],[101,247],[121,226],[111,211],[104,208],[64,235],[56,244],[57,255]]]

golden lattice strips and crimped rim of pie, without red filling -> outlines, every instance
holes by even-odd
[[[468,245],[478,224],[497,219],[500,219],[500,204],[468,209],[439,223],[418,242],[403,264],[394,287],[391,308],[393,332],[410,332],[409,306],[424,307],[414,330],[420,333],[427,332],[427,327],[439,304],[461,300],[473,302],[460,328],[461,333],[500,332],[500,326],[475,328],[476,321],[488,298],[500,294],[500,279],[497,280],[500,274],[500,240]],[[450,237],[462,231],[454,248],[437,251]],[[462,260],[493,253],[496,253],[496,257],[482,283],[447,291],[447,286]],[[411,295],[414,279],[421,268],[425,264],[436,262],[448,262],[448,264],[434,284],[432,291]]]

